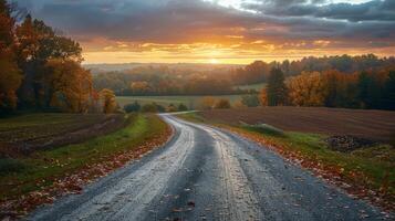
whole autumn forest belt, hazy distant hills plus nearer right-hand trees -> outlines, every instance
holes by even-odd
[[[111,88],[119,96],[237,94],[245,95],[237,106],[394,109],[394,57],[366,54],[310,56],[292,62],[256,61],[240,69],[201,72],[142,66],[94,74],[93,82],[97,91]],[[268,86],[261,91],[240,88],[240,85],[257,83]]]

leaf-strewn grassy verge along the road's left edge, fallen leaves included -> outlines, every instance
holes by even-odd
[[[163,145],[170,128],[155,115],[132,115],[128,126],[81,144],[18,158],[20,169],[0,176],[2,217],[23,214]]]

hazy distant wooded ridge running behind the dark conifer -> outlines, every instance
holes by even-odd
[[[241,85],[267,83],[274,67],[285,77],[303,72],[335,70],[344,74],[362,71],[380,71],[395,64],[394,57],[377,57],[374,54],[304,57],[300,61],[256,61],[239,69],[190,70],[168,66],[139,66],[128,71],[94,74],[96,90],[111,88],[119,96],[146,95],[231,95],[259,93],[242,90]]]

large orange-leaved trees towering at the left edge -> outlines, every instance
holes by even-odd
[[[18,109],[112,112],[114,93],[93,88],[82,49],[30,14],[0,0],[0,114]],[[110,98],[108,98],[110,97]],[[106,104],[107,103],[107,104]]]

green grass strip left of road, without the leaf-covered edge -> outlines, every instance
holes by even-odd
[[[51,185],[52,180],[77,171],[86,165],[133,149],[167,128],[155,115],[133,115],[128,120],[128,126],[110,135],[19,158],[18,165],[22,165],[22,169],[12,169],[9,173],[0,175],[0,198],[37,190],[38,180],[45,180],[44,185]],[[4,162],[0,161],[1,164]]]

